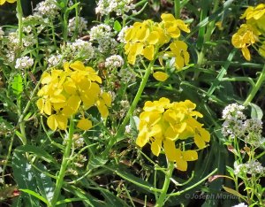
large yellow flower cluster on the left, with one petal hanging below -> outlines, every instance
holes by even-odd
[[[81,113],[77,126],[82,130],[92,127],[84,111],[96,106],[102,118],[109,115],[111,104],[109,93],[102,92],[99,83],[101,78],[92,67],[76,61],[64,63],[64,70],[52,69],[42,73],[42,88],[37,106],[42,114],[48,115],[47,124],[53,131],[67,128],[68,119],[77,112]]]

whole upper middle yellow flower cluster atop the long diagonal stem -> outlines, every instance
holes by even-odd
[[[181,19],[175,19],[172,14],[163,13],[160,23],[151,19],[143,22],[135,22],[133,27],[125,31],[125,54],[128,63],[134,65],[137,56],[143,56],[148,60],[155,58],[156,52],[166,43],[170,43],[170,51],[165,52],[175,58],[177,69],[188,65],[189,53],[186,42],[179,41],[180,32],[190,32],[190,29]],[[164,51],[163,51],[164,52]]]

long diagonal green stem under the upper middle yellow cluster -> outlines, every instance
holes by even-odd
[[[156,58],[154,58],[154,60],[152,60],[149,63],[148,68],[146,70],[146,73],[145,73],[143,79],[140,82],[140,87],[138,88],[137,94],[136,94],[136,96],[133,99],[133,103],[131,104],[131,107],[130,107],[129,111],[127,112],[127,114],[125,116],[125,119],[123,120],[122,124],[118,127],[116,135],[110,137],[110,142],[109,142],[108,146],[106,147],[106,149],[102,153],[103,157],[106,157],[109,154],[110,149],[112,148],[112,146],[120,138],[120,136],[125,132],[125,126],[127,125],[128,121],[130,120],[130,118],[131,118],[131,116],[133,114],[133,111],[135,110],[135,108],[137,106],[137,103],[140,100],[140,96],[141,96],[144,88],[147,85],[149,75],[152,72],[152,68],[153,68],[153,65],[155,63],[155,59]]]

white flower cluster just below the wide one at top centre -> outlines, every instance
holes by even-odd
[[[101,41],[102,39],[109,39],[112,35],[111,27],[109,25],[100,24],[90,29],[90,40]]]

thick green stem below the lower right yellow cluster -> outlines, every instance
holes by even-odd
[[[168,189],[170,187],[170,178],[172,177],[173,170],[174,170],[174,163],[169,162],[168,163],[168,170],[165,173],[165,177],[164,177],[162,193],[160,194],[158,200],[156,201],[155,207],[161,207],[161,206],[163,206],[163,204],[165,202],[165,199],[167,197],[167,192],[168,192]]]

